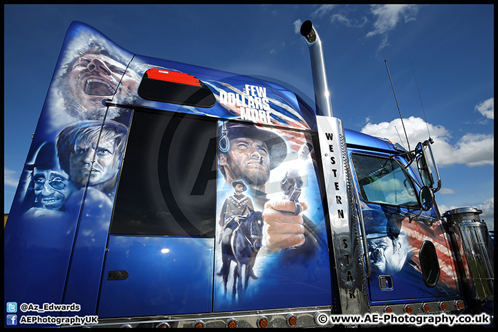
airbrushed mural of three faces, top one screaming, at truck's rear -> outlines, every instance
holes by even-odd
[[[140,82],[135,71],[123,75],[132,55],[98,33],[75,33],[64,48],[23,176],[21,199],[35,218],[79,209],[86,185],[110,204],[131,113],[105,102],[133,100]]]

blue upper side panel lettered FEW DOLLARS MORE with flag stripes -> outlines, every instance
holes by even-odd
[[[299,104],[295,93],[279,84],[257,80],[254,77],[142,55],[136,55],[133,58],[127,73],[133,77],[142,77],[151,66],[193,75],[212,91],[216,98],[216,104],[208,108],[191,107],[146,100],[139,95],[134,95],[133,98],[129,99],[121,98],[122,103],[201,116],[273,124],[294,129],[310,129],[311,124],[315,122],[313,110],[302,103]],[[119,99],[120,93],[117,93],[116,97]],[[248,109],[256,111],[257,116],[251,116]],[[265,115],[261,118],[260,111],[263,110],[268,111],[268,113],[264,112]]]

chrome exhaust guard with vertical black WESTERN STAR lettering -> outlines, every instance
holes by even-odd
[[[340,312],[362,315],[369,312],[367,278],[360,239],[358,209],[344,142],[344,129],[338,118],[317,116],[326,201],[338,278]]]

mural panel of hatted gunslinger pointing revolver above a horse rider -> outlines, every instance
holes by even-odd
[[[260,308],[261,297],[268,308],[328,303],[329,252],[311,137],[220,121],[217,160],[215,310]]]

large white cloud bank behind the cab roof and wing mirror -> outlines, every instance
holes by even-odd
[[[421,118],[414,116],[404,119],[404,122],[411,149],[414,149],[417,142],[427,140],[428,126],[430,136],[434,140],[434,144],[431,146],[432,151],[439,167],[448,167],[454,164],[463,164],[469,167],[495,165],[495,137],[492,134],[467,133],[455,145],[451,145],[450,132],[443,126],[427,124]],[[398,142],[407,148],[405,131],[400,119],[380,122],[379,124],[367,123],[361,132],[371,136],[388,138],[391,142]]]

